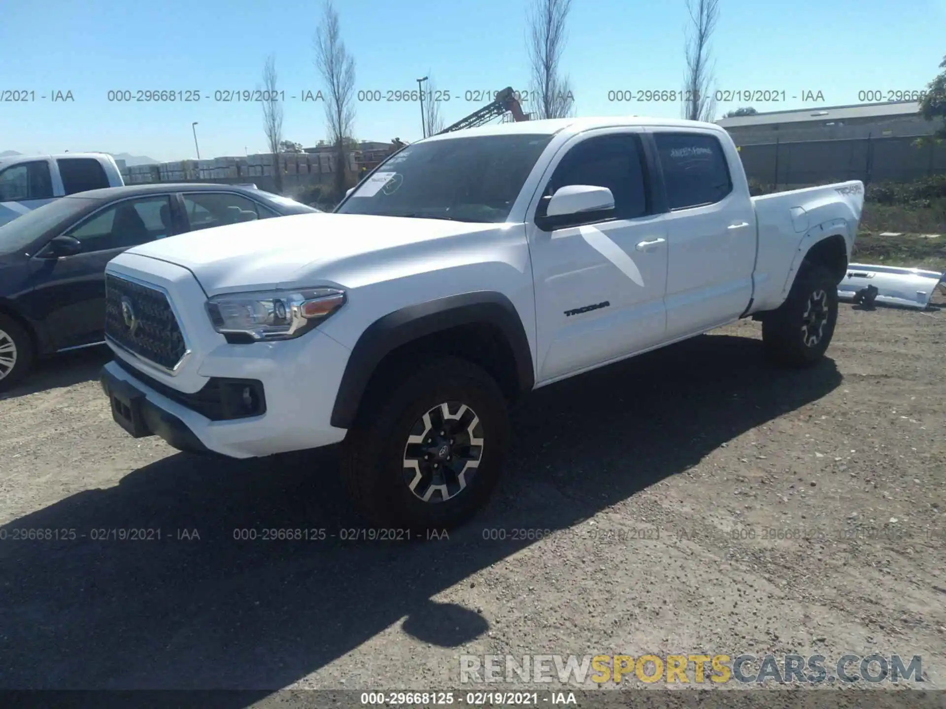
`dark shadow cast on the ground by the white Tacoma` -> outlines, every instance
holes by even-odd
[[[431,597],[533,544],[489,529],[571,527],[841,381],[830,359],[777,370],[758,340],[716,335],[540,389],[514,414],[494,500],[448,540],[342,540],[364,523],[332,449],[164,458],[0,527],[0,687],[254,690],[224,702],[245,706],[394,624],[456,648],[488,619]],[[77,538],[9,541],[27,528]],[[91,539],[116,528],[161,539]],[[266,528],[326,534],[262,541]],[[235,539],[244,529],[257,539]]]

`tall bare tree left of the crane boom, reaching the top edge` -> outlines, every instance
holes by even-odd
[[[325,82],[328,137],[336,151],[335,194],[342,199],[347,164],[346,138],[355,126],[355,59],[348,54],[339,29],[339,13],[326,0],[322,24],[315,33],[315,66]]]

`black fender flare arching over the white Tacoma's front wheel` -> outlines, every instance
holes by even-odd
[[[531,391],[535,383],[532,348],[516,306],[497,291],[463,293],[403,307],[365,328],[345,365],[332,407],[332,426],[351,427],[368,382],[385,356],[419,337],[474,323],[499,328],[516,360],[520,393]]]

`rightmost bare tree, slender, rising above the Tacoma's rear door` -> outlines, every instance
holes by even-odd
[[[710,65],[710,37],[719,20],[719,0],[687,0],[690,24],[687,28],[687,76],[685,118],[711,121],[716,116],[713,95],[713,67]]]

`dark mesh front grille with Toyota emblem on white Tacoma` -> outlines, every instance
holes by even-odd
[[[173,370],[184,334],[162,290],[105,274],[105,335],[131,353]]]

